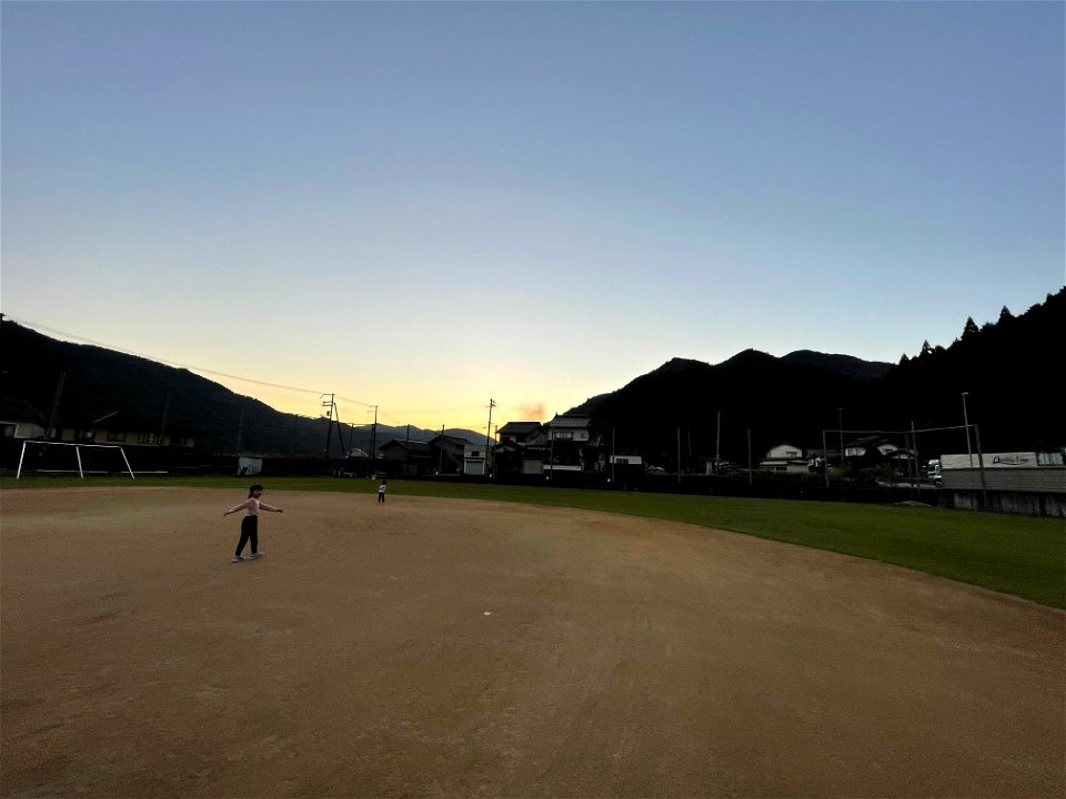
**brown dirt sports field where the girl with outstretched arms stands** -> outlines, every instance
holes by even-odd
[[[1066,614],[681,524],[7,490],[4,797],[1062,797]]]

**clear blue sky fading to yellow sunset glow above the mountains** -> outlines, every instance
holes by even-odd
[[[2,310],[430,428],[896,362],[1066,282],[1064,10],[6,1]]]

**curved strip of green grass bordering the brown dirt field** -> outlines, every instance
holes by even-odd
[[[263,477],[270,492],[371,494],[376,482]],[[238,477],[0,476],[0,490],[38,487],[182,486],[241,493]],[[869,558],[1066,608],[1066,523],[924,506],[752,499],[576,488],[390,481],[390,496],[434,496],[622,513],[743,533]]]

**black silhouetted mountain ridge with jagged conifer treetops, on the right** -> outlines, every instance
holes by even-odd
[[[841,437],[912,427],[945,428],[918,437],[926,452],[965,452],[966,392],[986,451],[1057,449],[1066,443],[1056,387],[1064,330],[1059,290],[1019,316],[1004,309],[980,328],[967,320],[949,347],[926,344],[897,365],[809,350],[780,358],[745,350],[717,365],[672,358],[572,412],[590,414],[617,453],[666,464],[678,451],[690,465],[716,454],[743,463],[786,441],[838,449]]]

